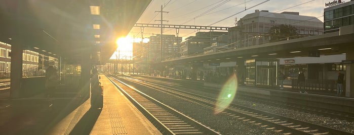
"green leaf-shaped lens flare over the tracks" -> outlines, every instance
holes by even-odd
[[[216,101],[214,114],[222,112],[233,100],[237,92],[237,77],[233,74],[224,84]]]

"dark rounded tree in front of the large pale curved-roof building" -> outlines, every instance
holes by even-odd
[[[269,35],[271,42],[298,38],[297,29],[294,26],[286,24],[271,27]]]

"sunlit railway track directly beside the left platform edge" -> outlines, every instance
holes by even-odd
[[[108,77],[108,79],[119,88],[163,134],[220,134],[113,77]]]

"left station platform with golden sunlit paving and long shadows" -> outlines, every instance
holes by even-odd
[[[0,106],[0,134],[161,134],[106,78],[103,108],[91,108],[90,99],[16,99]],[[4,102],[4,100],[0,101]]]

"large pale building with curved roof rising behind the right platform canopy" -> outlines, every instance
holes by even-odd
[[[237,21],[229,30],[230,47],[247,47],[268,43],[269,30],[281,24],[291,25],[302,36],[323,34],[323,22],[316,17],[301,16],[298,12],[271,13],[256,10]]]

